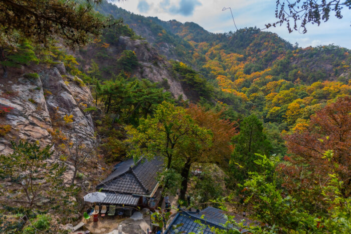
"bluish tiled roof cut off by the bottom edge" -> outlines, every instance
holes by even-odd
[[[254,221],[243,217],[241,215],[237,214],[229,214],[231,216],[234,216],[234,220],[236,222],[241,222],[243,221],[243,224],[246,226],[249,226],[250,224],[257,224]],[[199,223],[194,222],[195,220],[200,221],[203,225],[200,225]],[[175,218],[172,220],[172,222],[169,224],[168,228],[164,233],[175,233],[173,230],[173,225],[177,225],[180,223],[183,223],[182,226],[178,227],[179,231],[184,231],[184,233],[188,232],[195,232],[197,233],[197,229],[199,228],[204,228],[204,233],[214,233],[211,231],[211,229],[208,226],[211,227],[216,227],[220,229],[225,229],[224,225],[227,221],[227,216],[225,211],[221,209],[217,209],[214,207],[207,207],[203,209],[200,212],[186,212],[183,211],[182,213],[179,213]],[[229,225],[227,228],[231,228],[233,225]],[[246,232],[246,229],[242,229],[241,232]]]

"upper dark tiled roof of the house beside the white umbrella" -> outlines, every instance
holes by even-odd
[[[97,186],[102,191],[149,195],[157,185],[157,172],[162,170],[160,158],[142,159],[135,165],[133,159],[119,163],[106,179]]]

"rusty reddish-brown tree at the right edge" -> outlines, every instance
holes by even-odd
[[[296,155],[291,161],[295,166],[295,179],[300,186],[309,186],[313,181],[325,180],[329,173],[337,174],[342,181],[342,195],[350,195],[351,185],[351,97],[338,98],[311,116],[309,125],[290,135],[286,135],[289,151]],[[333,157],[324,156],[332,150]],[[289,159],[289,158],[287,158]],[[302,176],[308,171],[308,176]],[[290,178],[292,178],[290,173]],[[299,179],[300,178],[300,179]],[[291,183],[286,183],[292,186]]]

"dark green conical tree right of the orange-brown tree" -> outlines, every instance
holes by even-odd
[[[231,174],[237,182],[247,178],[249,171],[259,171],[254,162],[259,154],[269,154],[272,148],[263,132],[262,122],[250,115],[240,123],[240,133],[233,138],[235,145],[231,161]]]

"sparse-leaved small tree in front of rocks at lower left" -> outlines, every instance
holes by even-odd
[[[12,142],[12,148],[12,154],[0,155],[0,179],[19,187],[16,196],[12,196],[13,202],[32,207],[52,199],[55,191],[58,195],[65,167],[49,161],[53,154],[51,145],[41,149],[36,143]],[[8,196],[9,191],[7,187],[0,187],[2,196]]]

